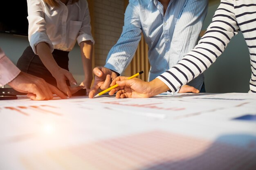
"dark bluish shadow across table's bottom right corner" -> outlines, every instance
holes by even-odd
[[[196,156],[177,161],[167,158],[166,161],[139,170],[256,170],[256,136],[221,136]]]

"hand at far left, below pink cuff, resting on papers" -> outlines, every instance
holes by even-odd
[[[45,82],[44,79],[24,72],[20,72],[20,74],[8,84],[16,91],[27,93],[27,97],[32,100],[49,100],[53,98],[53,94],[58,95],[61,99],[67,98],[56,87]]]

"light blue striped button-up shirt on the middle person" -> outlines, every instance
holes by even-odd
[[[170,0],[165,14],[158,0],[129,0],[123,32],[108,53],[105,67],[121,74],[130,64],[142,32],[151,66],[148,80],[155,79],[194,48],[207,10],[208,0]],[[192,86],[200,90],[203,81],[202,74]]]

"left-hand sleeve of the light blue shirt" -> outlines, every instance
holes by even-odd
[[[141,40],[141,22],[137,10],[138,5],[129,2],[124,16],[123,32],[117,44],[110,49],[104,66],[119,74],[130,64]]]

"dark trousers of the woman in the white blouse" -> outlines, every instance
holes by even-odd
[[[58,66],[61,68],[68,69],[68,51],[61,51],[56,50],[52,52],[54,60],[57,62]],[[21,57],[17,62],[17,67],[31,75],[35,75],[37,77],[43,78],[47,83],[57,86],[56,79],[52,76],[52,74],[48,71],[45,67],[43,62],[40,60],[39,56],[34,53],[31,46],[28,46]],[[67,85],[70,86],[69,82],[67,81]]]

